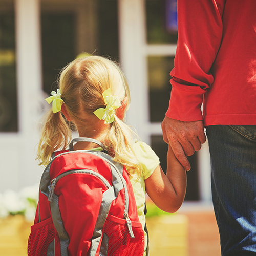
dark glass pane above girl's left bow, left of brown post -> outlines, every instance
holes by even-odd
[[[55,87],[60,70],[75,58],[74,13],[41,14],[42,68],[44,91]]]

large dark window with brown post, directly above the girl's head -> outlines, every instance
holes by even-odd
[[[117,0],[41,1],[44,91],[80,53],[118,60]]]

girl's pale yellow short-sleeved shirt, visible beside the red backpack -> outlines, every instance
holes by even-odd
[[[145,179],[147,179],[152,175],[156,167],[160,164],[160,161],[156,153],[152,150],[152,148],[144,142],[134,143],[133,150],[143,167],[140,179],[138,179],[137,176],[130,175],[130,181],[133,186],[139,220],[140,220],[140,223],[142,224],[142,227],[144,228],[146,223],[145,214],[144,214],[145,199],[146,199]],[[146,249],[147,235],[145,231],[144,233],[145,233],[145,249]],[[144,252],[143,256],[145,255],[146,253]]]

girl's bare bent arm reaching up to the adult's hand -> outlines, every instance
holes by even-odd
[[[151,200],[167,212],[176,212],[183,203],[186,193],[186,170],[175,157],[169,146],[167,153],[167,172],[160,165],[145,180],[146,192]]]

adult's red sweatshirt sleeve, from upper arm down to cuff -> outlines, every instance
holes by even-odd
[[[225,0],[178,0],[177,4],[178,43],[166,116],[202,120],[203,95],[214,81],[210,69],[221,45]]]

